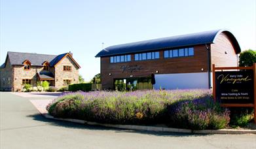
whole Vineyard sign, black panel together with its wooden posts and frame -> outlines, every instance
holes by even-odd
[[[252,67],[215,67],[213,64],[212,74],[214,101],[221,103],[221,107],[252,107],[256,116],[256,63]]]

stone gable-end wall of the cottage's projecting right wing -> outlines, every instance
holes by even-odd
[[[71,71],[64,71],[64,65],[70,65]],[[62,88],[64,87],[65,79],[71,80],[71,84],[76,84],[79,82],[79,67],[72,61],[69,56],[66,56],[60,63],[55,67],[55,87]]]

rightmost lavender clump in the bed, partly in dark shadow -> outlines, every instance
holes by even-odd
[[[213,103],[211,96],[170,105],[170,125],[187,129],[222,129],[229,124],[229,110]]]

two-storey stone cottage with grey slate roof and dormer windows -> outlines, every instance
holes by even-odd
[[[71,52],[58,56],[7,52],[0,67],[0,90],[19,91],[24,84],[37,86],[45,80],[60,89],[79,82],[79,68]]]

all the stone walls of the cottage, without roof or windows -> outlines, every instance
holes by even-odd
[[[64,65],[70,65],[71,71],[64,71]],[[49,67],[49,71],[55,76],[55,86],[60,89],[64,87],[64,79],[71,80],[72,84],[79,82],[79,67],[75,65],[69,56],[65,57],[56,65],[56,67]],[[10,65],[10,60],[7,58],[7,64],[5,68],[0,69],[0,90],[22,90],[22,79],[31,79],[31,85],[37,86],[39,78],[37,73],[43,71],[43,66],[30,66],[30,70],[24,70],[24,65]]]

